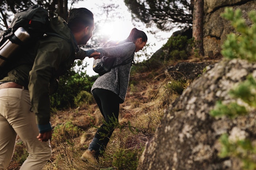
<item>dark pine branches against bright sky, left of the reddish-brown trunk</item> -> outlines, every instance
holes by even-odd
[[[147,26],[156,24],[160,30],[192,26],[190,0],[124,0],[136,21]]]

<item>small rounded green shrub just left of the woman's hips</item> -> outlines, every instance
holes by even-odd
[[[92,93],[87,91],[81,91],[78,95],[74,98],[75,106],[82,106],[82,105],[91,105],[94,101],[94,97]]]

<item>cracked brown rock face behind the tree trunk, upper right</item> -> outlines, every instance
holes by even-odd
[[[256,10],[255,0],[204,0],[204,54],[209,52],[218,55],[221,52],[221,46],[226,39],[227,34],[234,31],[227,20],[220,15],[225,7],[240,8],[247,24],[250,25],[247,13]]]

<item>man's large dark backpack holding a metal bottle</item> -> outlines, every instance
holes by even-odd
[[[34,5],[15,13],[9,28],[0,33],[0,75],[7,72],[6,63],[14,60],[19,49],[43,37],[49,25],[48,11],[42,6]]]

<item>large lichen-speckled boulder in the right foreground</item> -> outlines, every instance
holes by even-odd
[[[235,119],[214,118],[209,112],[216,101],[234,101],[229,91],[246,76],[256,78],[256,64],[222,60],[197,78],[170,106],[147,142],[138,170],[241,170],[233,157],[220,158],[220,135],[243,134],[256,142],[256,114]]]

